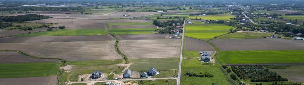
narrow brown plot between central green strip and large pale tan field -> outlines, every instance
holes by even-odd
[[[134,35],[115,35],[119,40],[142,40],[142,39],[169,39],[169,34],[134,34]]]

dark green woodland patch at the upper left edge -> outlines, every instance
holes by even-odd
[[[49,19],[52,18],[46,15],[37,15],[37,14],[27,14],[27,15],[17,15],[17,16],[5,16],[1,17],[0,20],[4,22],[26,22],[40,19]]]

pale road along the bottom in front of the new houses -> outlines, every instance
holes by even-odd
[[[97,83],[97,82],[115,82],[115,81],[133,81],[133,80],[161,80],[161,79],[175,79],[174,77],[165,77],[165,78],[144,78],[144,79],[124,79],[124,80],[95,80],[95,81],[78,81],[78,82],[69,82],[72,83]]]

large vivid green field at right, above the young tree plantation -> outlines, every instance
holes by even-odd
[[[304,50],[221,51],[219,60],[226,64],[304,63]]]

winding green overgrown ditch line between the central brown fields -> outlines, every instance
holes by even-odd
[[[127,57],[125,54],[123,54],[123,53],[119,50],[119,47],[118,47],[119,38],[116,37],[114,34],[108,32],[109,29],[110,29],[110,27],[109,27],[109,25],[108,25],[107,23],[105,23],[105,25],[107,25],[107,29],[105,30],[105,33],[111,34],[111,36],[115,37],[115,39],[116,39],[116,42],[115,42],[115,51],[116,51],[120,56],[123,57],[123,59],[125,60],[125,63],[126,63],[126,64],[130,63],[130,61],[128,60],[128,57]]]

